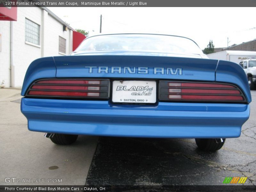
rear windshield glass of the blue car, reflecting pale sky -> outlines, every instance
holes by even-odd
[[[195,42],[184,37],[142,34],[93,36],[85,39],[76,52],[106,50],[203,54]]]

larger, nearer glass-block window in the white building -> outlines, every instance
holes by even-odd
[[[33,43],[36,45],[40,44],[40,26],[34,23],[31,20],[26,18],[25,21],[25,40],[29,43]]]

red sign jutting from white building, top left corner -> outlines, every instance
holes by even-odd
[[[0,1],[0,4],[4,1]],[[1,4],[2,5],[2,4]],[[4,21],[17,21],[17,7],[11,5],[4,5],[0,7],[0,20]]]

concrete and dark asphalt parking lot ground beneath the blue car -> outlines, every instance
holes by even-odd
[[[0,89],[0,185],[222,185],[225,177],[248,177],[244,184],[256,185],[256,91],[251,94],[241,137],[206,153],[194,139],[79,136],[73,145],[58,146],[28,131],[20,89]]]

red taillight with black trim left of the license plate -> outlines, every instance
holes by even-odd
[[[45,98],[109,98],[109,79],[41,79],[26,96]]]

